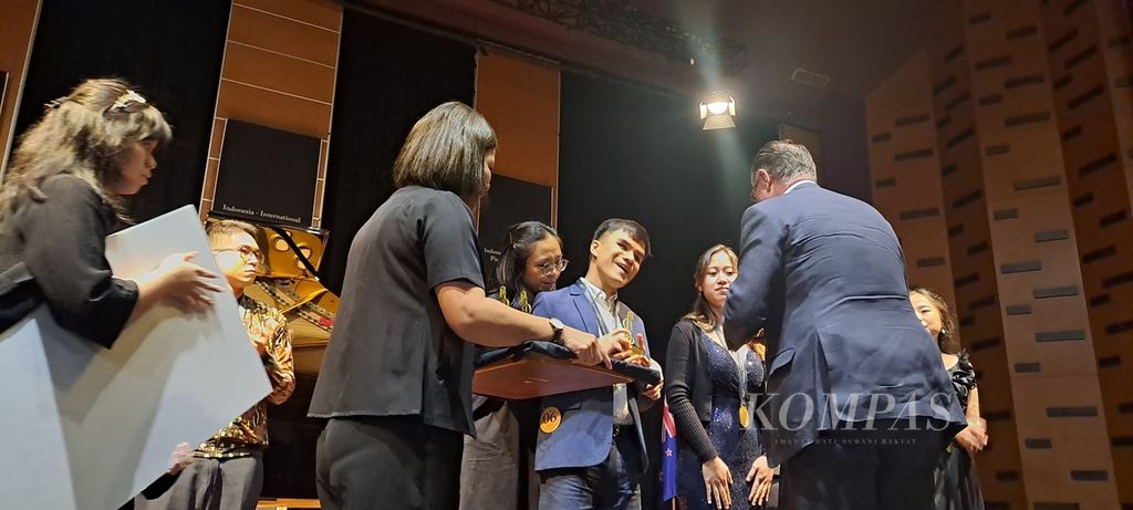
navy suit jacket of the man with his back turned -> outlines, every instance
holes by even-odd
[[[897,237],[863,202],[807,182],[748,207],[724,335],[735,349],[760,328],[773,465],[837,422],[927,416],[949,437],[965,425],[940,351],[909,303]]]

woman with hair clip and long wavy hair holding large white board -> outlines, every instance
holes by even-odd
[[[105,237],[127,223],[125,197],[150,181],[171,130],[126,82],[88,79],[46,104],[20,138],[0,188],[0,330],[40,303],[62,328],[109,348],[157,303],[194,312],[222,289],[196,254],[135,280],[113,275]]]

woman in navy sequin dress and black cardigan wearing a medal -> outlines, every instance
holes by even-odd
[[[721,311],[736,275],[735,253],[723,245],[697,264],[692,313],[668,342],[665,385],[678,437],[678,508],[758,508],[773,471],[751,419],[750,400],[764,364],[751,349],[733,352],[719,331]]]

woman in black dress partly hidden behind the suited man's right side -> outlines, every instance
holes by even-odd
[[[936,468],[937,510],[982,510],[983,496],[972,458],[988,443],[987,422],[980,418],[976,368],[956,337],[956,320],[947,301],[923,287],[909,291],[921,324],[940,347],[940,358],[952,376],[952,385],[968,417],[968,427],[952,440]]]

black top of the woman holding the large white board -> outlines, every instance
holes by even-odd
[[[40,189],[45,201],[26,199],[0,223],[0,272],[24,274],[15,280],[29,273],[35,298],[46,301],[59,325],[110,347],[138,298],[137,284],[113,278],[105,257],[107,236],[122,224],[78,177],[52,176]],[[20,263],[26,272],[14,270]]]

